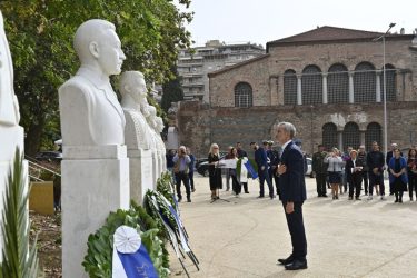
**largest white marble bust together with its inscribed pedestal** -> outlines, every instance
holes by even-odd
[[[109,211],[129,208],[125,115],[109,77],[126,59],[112,23],[83,22],[73,40],[81,66],[59,88],[63,160],[62,277],[87,277],[88,235]]]

